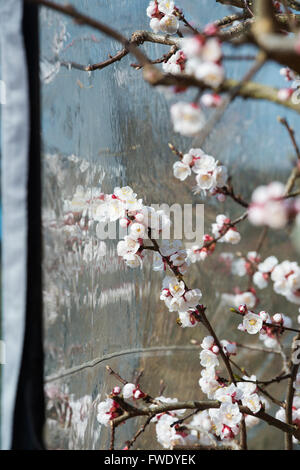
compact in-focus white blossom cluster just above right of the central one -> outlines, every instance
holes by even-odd
[[[214,194],[219,188],[225,186],[228,179],[227,168],[199,148],[190,149],[181,160],[173,165],[174,176],[180,181],[191,176],[192,171],[196,174],[197,192],[209,191],[210,194]]]

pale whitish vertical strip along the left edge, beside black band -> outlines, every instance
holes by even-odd
[[[2,367],[1,447],[11,446],[14,404],[23,350],[26,312],[27,170],[29,103],[22,38],[22,0],[0,0],[2,147]]]

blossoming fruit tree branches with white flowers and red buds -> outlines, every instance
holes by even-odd
[[[80,13],[70,5],[62,6],[48,0],[30,1],[65,14],[77,24],[88,25],[122,45],[117,53],[93,65],[84,66],[68,61],[60,65],[96,72],[131,54],[137,61],[131,65],[142,70],[144,80],[150,85],[164,87],[174,96],[196,88],[194,101],[179,101],[170,108],[174,131],[182,136],[200,135],[203,143],[237,97],[268,100],[300,112],[297,95],[300,73],[297,28],[300,17],[289,11],[289,8],[300,11],[298,2],[219,0],[219,3],[237,7],[242,12],[227,14],[201,29],[188,20],[174,1],[152,0],[146,11],[152,31],[135,31],[127,39],[109,25]],[[149,59],[140,48],[147,42],[165,45],[168,47],[167,52],[161,57]],[[242,79],[226,77],[224,43],[236,48],[244,44],[256,47],[253,63]],[[296,83],[294,88],[276,89],[272,84],[263,85],[252,81],[269,60],[285,66],[280,73],[288,82]],[[157,67],[159,64],[161,68]],[[209,120],[204,113],[204,109],[208,108],[214,109]],[[243,207],[243,213],[234,220],[228,214],[218,214],[211,226],[211,234],[206,233],[199,246],[184,248],[180,241],[170,242],[169,237],[164,237],[171,226],[169,216],[162,210],[145,205],[129,186],[116,187],[112,194],[96,190],[92,197],[79,188],[73,199],[66,201],[65,225],[76,226],[80,230],[94,224],[99,229],[101,224],[118,221],[124,235],[118,242],[117,254],[125,265],[134,269],[152,263],[154,271],[164,275],[160,299],[169,312],[176,313],[178,326],[198,326],[199,330],[204,327],[208,332],[201,344],[199,342],[202,366],[199,386],[207,400],[178,401],[177,398],[165,397],[164,392],[153,398],[142,391],[139,378],[137,383],[131,383],[110,367],[107,368],[109,374],[122,385],[114,387],[108,397],[98,404],[99,424],[111,429],[111,450],[116,446],[117,428],[137,417],[144,417],[145,421],[125,443],[124,449],[132,448],[152,424],[156,428],[157,440],[164,448],[198,446],[246,450],[247,429],[256,426],[259,421],[282,431],[287,449],[293,448],[293,439],[296,442],[300,440],[300,375],[298,363],[294,360],[300,331],[292,326],[291,318],[283,313],[269,314],[264,310],[255,313],[259,302],[258,290],[270,285],[286,301],[300,305],[298,263],[288,260],[280,262],[272,255],[262,260],[259,253],[269,230],[283,230],[300,221],[299,191],[295,188],[300,175],[300,151],[295,133],[287,120],[280,118],[279,121],[291,138],[297,157],[295,165],[285,184],[273,181],[253,188],[249,201],[237,193],[229,170],[214,156],[208,155],[202,148],[190,148],[185,152],[169,144],[173,154],[178,157],[178,161],[173,164],[176,179],[183,182],[194,175],[195,186],[192,189],[195,194],[215,198],[216,203],[230,198]],[[217,246],[239,244],[241,234],[238,229],[241,223],[262,227],[263,231],[255,250],[236,257],[229,254],[225,259],[227,262],[229,260],[232,274],[247,276],[249,283],[247,290],[223,293],[222,299],[230,305],[232,313],[242,317],[238,330],[258,335],[264,343],[263,348],[256,348],[260,353],[276,352],[281,355],[285,370],[271,379],[258,379],[233,359],[239,353],[239,348],[247,346],[219,338],[209,319],[207,307],[200,303],[202,291],[190,288],[185,280],[190,265],[202,263],[208,256],[213,256]],[[289,345],[290,356],[281,343],[288,332],[297,333],[293,344]],[[227,378],[223,377],[222,368],[226,369]],[[234,373],[233,368],[238,370],[239,375]],[[288,386],[284,400],[266,390],[269,385],[285,381],[288,381]],[[270,407],[268,400],[279,407],[275,417],[266,412]],[[185,415],[186,410],[193,412]]]

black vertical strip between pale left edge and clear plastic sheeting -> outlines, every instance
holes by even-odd
[[[23,36],[30,97],[26,325],[14,413],[13,449],[43,449],[41,144],[38,7],[24,2]],[[24,71],[25,73],[25,71]],[[17,188],[16,188],[17,190]]]

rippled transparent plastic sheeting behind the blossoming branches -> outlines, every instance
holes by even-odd
[[[178,3],[201,26],[228,11],[211,0]],[[149,29],[147,0],[72,4],[128,37],[135,30]],[[144,368],[141,386],[152,395],[158,395],[163,379],[166,396],[201,399],[199,353],[190,340],[201,340],[205,332],[176,325],[176,315],[159,301],[161,276],[150,265],[145,263],[142,271],[126,269],[117,257],[116,241],[105,241],[104,248],[93,227],[74,232],[65,223],[66,201],[76,191],[92,197],[99,188],[112,192],[114,186],[128,184],[146,204],[202,202],[191,194],[193,182],[182,184],[173,178],[174,158],[167,145],[171,141],[188,150],[197,141],[174,134],[172,101],[144,83],[141,73],[130,67],[132,57],[92,74],[68,66],[72,61],[87,65],[105,60],[120,48],[115,41],[46,9],[41,11],[41,31],[47,441],[49,448],[107,448],[109,430],[97,423],[96,408],[116,382],[107,376],[105,366],[127,380]],[[143,48],[151,58],[166,52],[159,45]],[[253,50],[246,49],[249,52]],[[234,61],[227,72],[242,77],[249,67],[249,62]],[[284,86],[279,67],[273,64],[257,80]],[[195,91],[188,96],[194,98]],[[292,149],[276,121],[281,111],[273,104],[237,99],[205,142],[204,149],[229,166],[237,192],[246,198],[255,185],[284,180],[288,172]],[[292,124],[294,114],[284,115]],[[232,218],[241,214],[232,201],[221,208],[206,201],[206,230],[217,211],[228,211]],[[250,243],[243,239],[242,251],[253,249],[259,233],[246,230]],[[272,241],[273,253],[280,258],[286,246],[284,237]],[[203,302],[220,338],[243,340],[236,319],[221,302],[221,293],[241,281],[226,271],[218,255],[195,265],[188,279],[189,285],[204,292]],[[271,291],[265,292],[261,306],[295,317],[294,306],[286,307]],[[254,363],[265,376],[279,368],[272,357],[262,361],[259,354],[241,351],[239,358],[246,367]],[[127,422],[118,428],[117,442],[131,438],[137,425]],[[264,425],[256,428],[256,446],[280,446],[278,433],[265,431]],[[145,433],[138,445],[158,447],[151,434]]]

